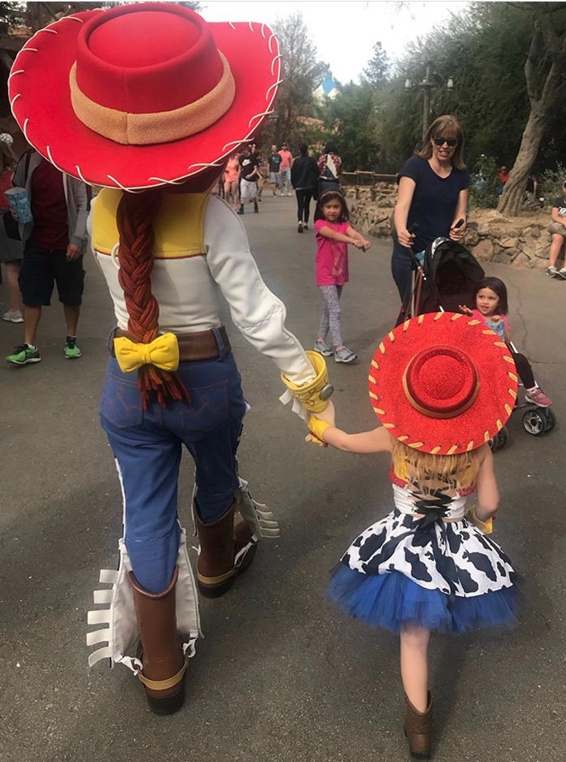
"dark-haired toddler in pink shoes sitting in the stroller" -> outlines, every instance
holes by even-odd
[[[517,373],[525,387],[525,401],[532,405],[539,405],[539,408],[549,408],[552,405],[552,399],[545,395],[545,392],[536,383],[529,360],[513,347],[509,322],[507,321],[507,312],[509,312],[507,287],[503,280],[496,277],[483,278],[476,285],[472,299],[475,301],[474,309],[459,305],[460,310],[465,315],[484,322],[488,328],[491,328],[491,331],[499,336],[501,341],[507,344]]]

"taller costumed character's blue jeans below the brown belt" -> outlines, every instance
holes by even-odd
[[[126,548],[136,579],[151,593],[167,588],[177,562],[183,445],[196,466],[204,523],[228,511],[238,487],[235,452],[246,404],[234,357],[181,363],[178,374],[190,402],[150,402],[143,410],[137,373],[122,373],[112,358],[100,405],[123,488]]]

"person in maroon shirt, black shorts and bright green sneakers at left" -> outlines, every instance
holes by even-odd
[[[34,219],[20,225],[24,258],[18,280],[24,303],[24,343],[14,347],[6,360],[12,365],[40,362],[37,327],[55,285],[66,323],[63,353],[67,360],[74,360],[82,355],[77,327],[85,287],[82,259],[87,242],[87,186],[35,150],[20,158],[14,185],[25,187]]]

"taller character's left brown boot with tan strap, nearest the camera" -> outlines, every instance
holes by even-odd
[[[179,568],[176,566],[167,590],[157,594],[140,588],[132,571],[128,575],[139,626],[139,658],[143,664],[138,677],[145,686],[149,706],[160,715],[177,712],[184,701],[187,662],[177,632],[175,613],[178,574]]]

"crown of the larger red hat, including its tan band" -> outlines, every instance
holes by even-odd
[[[69,84],[82,123],[134,145],[200,132],[235,94],[206,22],[180,5],[167,12],[159,4],[118,7],[91,18],[78,34]]]

